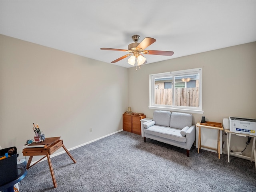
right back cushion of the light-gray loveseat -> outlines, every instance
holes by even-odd
[[[186,126],[192,126],[192,114],[172,112],[170,127],[183,129]]]

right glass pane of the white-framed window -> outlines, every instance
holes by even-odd
[[[199,107],[200,74],[175,75],[175,106]]]

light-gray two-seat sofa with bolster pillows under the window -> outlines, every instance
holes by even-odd
[[[189,150],[196,139],[192,114],[156,110],[153,119],[142,124],[142,136]]]

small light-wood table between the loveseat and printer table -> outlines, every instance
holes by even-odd
[[[199,122],[196,124],[196,126],[199,128],[199,132],[198,132],[198,153],[199,153],[199,150],[200,150],[201,147],[211,149],[211,150],[217,150],[218,158],[220,159],[220,130],[224,130],[223,127],[214,127],[214,126],[201,125]],[[207,129],[216,129],[216,130],[218,130],[217,149],[201,145],[201,127],[207,128]]]

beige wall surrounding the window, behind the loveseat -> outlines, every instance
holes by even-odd
[[[174,52],[175,54],[175,52]],[[146,64],[128,69],[128,105],[152,118],[149,74],[202,67],[202,109],[194,123],[222,122],[229,116],[256,118],[256,42]]]

